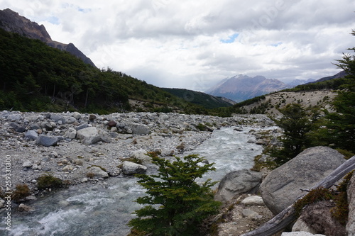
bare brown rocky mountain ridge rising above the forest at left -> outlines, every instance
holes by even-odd
[[[39,26],[38,23],[32,22],[28,20],[28,18],[20,16],[11,9],[0,10],[0,28],[8,32],[18,33],[19,35],[23,35],[27,38],[41,40],[50,47],[69,52],[70,54],[75,55],[75,57],[80,58],[83,62],[91,64],[95,67],[94,62],[92,62],[89,57],[85,56],[84,53],[77,49],[75,45],[72,43],[65,44],[53,41],[43,25]]]

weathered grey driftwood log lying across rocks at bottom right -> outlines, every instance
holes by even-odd
[[[317,189],[320,187],[329,189],[332,185],[339,181],[339,179],[342,179],[347,173],[351,172],[353,169],[355,169],[355,156],[351,157],[342,165],[340,165],[337,169],[334,170],[334,172],[329,174],[329,176],[325,177],[322,181],[313,186],[312,189]],[[303,196],[298,197],[295,201],[302,197]],[[271,236],[283,230],[285,227],[293,223],[296,219],[297,217],[295,215],[295,208],[293,208],[292,204],[261,227],[258,227],[256,230],[253,230],[251,232],[247,232],[242,236]]]

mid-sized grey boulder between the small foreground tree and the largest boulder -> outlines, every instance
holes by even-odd
[[[249,169],[230,172],[219,182],[215,200],[224,203],[241,193],[256,193],[261,183],[261,173]]]

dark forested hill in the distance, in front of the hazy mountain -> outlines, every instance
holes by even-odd
[[[229,99],[212,96],[209,94],[202,93],[200,91],[168,88],[163,88],[163,90],[167,91],[170,94],[173,94],[174,96],[178,96],[179,98],[184,99],[185,101],[189,101],[190,103],[203,106],[204,108],[229,107],[233,106],[236,103]]]

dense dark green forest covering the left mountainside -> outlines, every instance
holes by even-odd
[[[212,111],[122,72],[97,69],[40,40],[0,29],[0,109],[17,111]],[[129,100],[140,101],[131,106]]]

